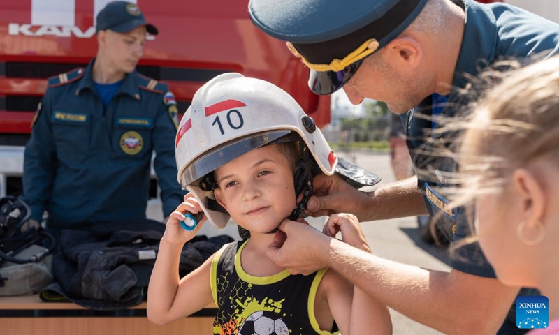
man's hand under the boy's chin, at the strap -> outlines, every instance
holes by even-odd
[[[326,267],[331,238],[308,224],[285,219],[279,225],[266,256],[291,274],[312,274]]]

